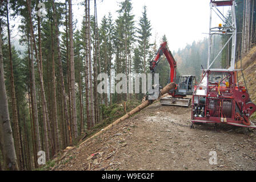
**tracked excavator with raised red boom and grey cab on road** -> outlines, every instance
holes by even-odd
[[[167,47],[167,42],[163,42],[159,47],[157,53],[152,61],[150,61],[150,72],[155,73],[157,65],[161,61],[160,57],[162,55],[166,56],[166,59],[170,65],[170,77],[169,83],[175,82],[176,87],[169,90],[169,96],[160,98],[160,103],[162,105],[175,105],[175,106],[186,106],[189,107],[191,104],[191,98],[186,98],[187,95],[192,95],[194,91],[194,86],[196,84],[196,78],[193,75],[181,75],[178,77],[176,82],[176,61]]]

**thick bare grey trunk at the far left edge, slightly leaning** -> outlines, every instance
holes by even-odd
[[[18,170],[15,154],[13,131],[9,118],[8,101],[3,72],[2,28],[0,23],[0,140],[2,145],[3,163],[6,170]]]

